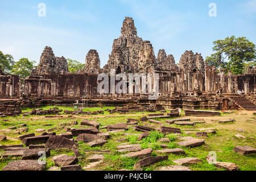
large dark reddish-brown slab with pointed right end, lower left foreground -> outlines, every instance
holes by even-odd
[[[50,136],[47,140],[46,147],[49,149],[58,149],[58,148],[71,148],[75,144],[77,146],[76,142],[73,142],[65,137],[61,136]]]

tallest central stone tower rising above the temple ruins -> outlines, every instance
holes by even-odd
[[[121,36],[114,39],[104,72],[110,73],[110,69],[115,69],[116,73],[147,72],[148,67],[154,69],[155,61],[152,44],[149,41],[143,42],[142,38],[137,36],[134,20],[125,17]]]

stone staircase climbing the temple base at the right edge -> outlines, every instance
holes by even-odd
[[[230,96],[230,100],[236,102],[243,110],[256,110],[256,105],[249,97],[246,96]]]

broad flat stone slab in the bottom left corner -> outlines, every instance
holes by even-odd
[[[3,171],[43,171],[44,167],[38,160],[14,160],[5,166]]]

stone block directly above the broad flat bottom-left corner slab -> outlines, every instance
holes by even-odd
[[[44,154],[46,154],[46,156],[50,156],[51,152],[48,148],[35,148],[31,150],[26,150],[23,152],[22,160],[39,159],[40,156]]]

